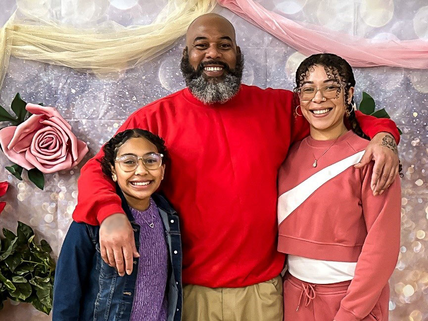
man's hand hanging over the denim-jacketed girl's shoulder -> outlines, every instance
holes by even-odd
[[[117,269],[120,276],[131,275],[134,257],[138,258],[134,231],[124,214],[113,214],[99,228],[99,247],[105,263]]]

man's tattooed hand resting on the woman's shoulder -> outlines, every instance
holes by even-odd
[[[375,161],[371,182],[373,195],[382,194],[398,174],[397,143],[391,134],[377,134],[367,145],[361,161],[355,167],[362,168],[371,160]]]

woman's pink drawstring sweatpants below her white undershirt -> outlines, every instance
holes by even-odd
[[[351,281],[313,284],[290,275],[284,276],[284,321],[333,321]],[[362,321],[388,321],[389,287]]]

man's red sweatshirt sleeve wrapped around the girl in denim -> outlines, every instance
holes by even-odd
[[[146,129],[147,124],[141,111],[132,114],[117,133],[127,129]],[[101,171],[100,160],[104,156],[101,150],[91,158],[80,172],[77,187],[77,205],[73,212],[73,220],[91,225],[99,225],[108,216],[115,213],[124,213],[120,197],[116,194],[116,186]]]

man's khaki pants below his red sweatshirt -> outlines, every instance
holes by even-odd
[[[283,311],[281,275],[239,288],[183,288],[183,321],[283,321]]]

